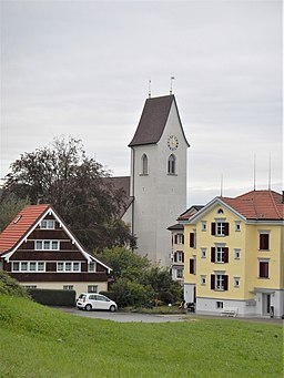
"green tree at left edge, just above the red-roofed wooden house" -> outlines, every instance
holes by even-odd
[[[7,195],[0,202],[0,233],[9,225],[16,215],[28,205],[29,198],[18,198],[14,194]]]

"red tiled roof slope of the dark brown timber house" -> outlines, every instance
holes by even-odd
[[[0,234],[0,255],[12,249],[50,205],[26,206]]]

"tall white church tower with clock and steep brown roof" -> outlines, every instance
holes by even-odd
[[[186,207],[186,151],[173,94],[148,99],[130,142],[132,233],[138,253],[162,266],[171,264],[166,229]]]

